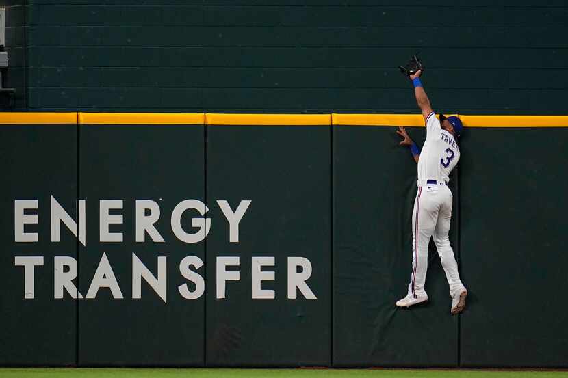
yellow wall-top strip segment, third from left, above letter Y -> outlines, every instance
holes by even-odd
[[[331,125],[331,114],[215,114],[207,113],[208,125],[317,126]]]

